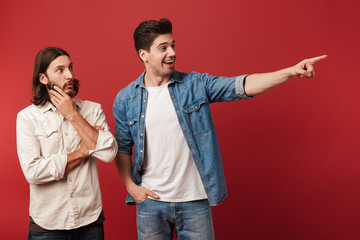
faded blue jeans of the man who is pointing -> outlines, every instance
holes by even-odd
[[[161,202],[147,198],[136,205],[139,240],[215,239],[208,200]]]

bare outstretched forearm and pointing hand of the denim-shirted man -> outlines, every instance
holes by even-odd
[[[327,55],[322,55],[319,57],[305,59],[295,66],[276,72],[249,75],[245,81],[245,92],[248,96],[255,96],[267,92],[293,78],[312,78],[315,76],[313,65],[326,57]]]

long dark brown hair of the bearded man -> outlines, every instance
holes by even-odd
[[[33,98],[31,102],[33,104],[42,106],[47,101],[50,101],[47,86],[40,82],[40,74],[43,73],[46,75],[46,70],[48,69],[51,62],[54,61],[57,57],[63,55],[66,55],[70,58],[70,55],[66,51],[56,47],[44,48],[36,55],[32,79]],[[79,80],[74,79],[75,96],[79,92],[79,86]]]

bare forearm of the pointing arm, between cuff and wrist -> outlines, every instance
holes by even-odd
[[[291,68],[281,69],[269,73],[256,73],[246,77],[245,93],[248,96],[256,96],[285,83],[293,78]]]

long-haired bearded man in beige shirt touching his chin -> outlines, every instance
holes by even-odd
[[[32,105],[18,113],[17,151],[30,183],[28,239],[104,239],[96,158],[117,144],[100,104],[75,98],[70,56],[60,48],[35,59]]]

